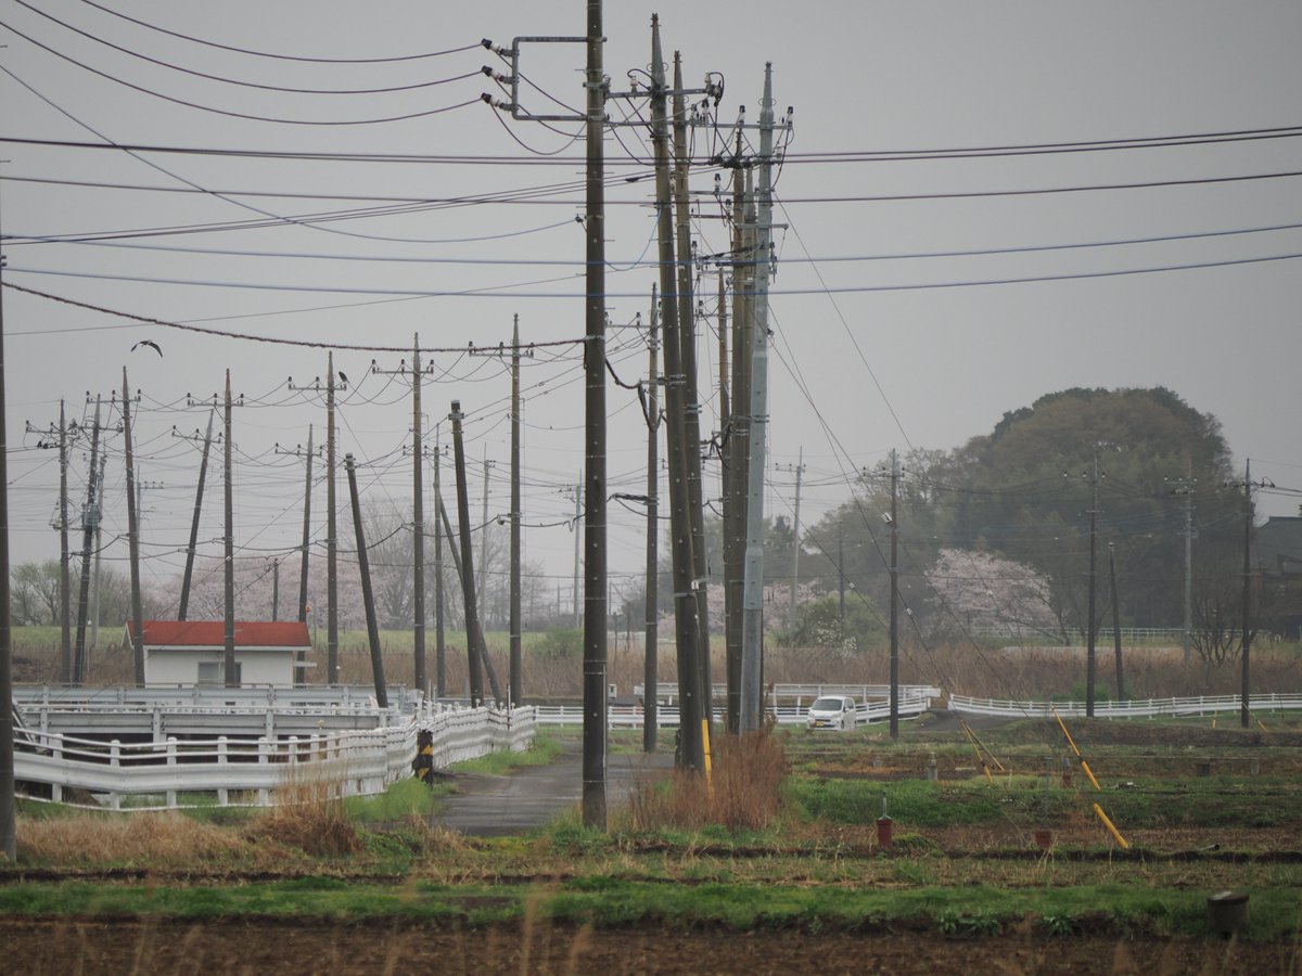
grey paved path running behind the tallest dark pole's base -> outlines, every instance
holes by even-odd
[[[562,739],[560,759],[548,766],[521,766],[509,776],[452,773],[443,778],[456,789],[444,799],[431,825],[464,834],[495,837],[542,826],[583,795],[583,744]],[[638,783],[673,768],[673,752],[620,752],[607,756],[605,799],[609,807],[628,802]],[[436,774],[437,776],[437,774]]]

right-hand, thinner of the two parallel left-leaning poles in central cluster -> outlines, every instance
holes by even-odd
[[[700,678],[700,717],[707,737],[713,718],[713,678],[710,661],[710,595],[706,561],[704,489],[700,478],[700,400],[697,385],[697,324],[693,290],[691,211],[687,202],[687,99],[682,88],[682,59],[673,52],[673,197],[678,254],[678,341],[684,379],[684,427],[686,428],[687,518],[691,522],[691,576],[697,591],[697,627],[699,652],[697,670]]]

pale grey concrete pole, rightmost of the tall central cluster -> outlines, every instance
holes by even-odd
[[[746,578],[742,590],[741,730],[759,729],[764,660],[764,450],[768,435],[768,260],[773,225],[773,65],[764,65],[759,109],[759,246],[755,252],[755,347],[750,386]]]

